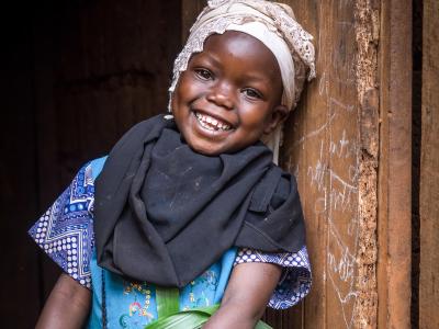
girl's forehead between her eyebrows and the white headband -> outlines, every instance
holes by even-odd
[[[225,65],[254,66],[273,78],[280,78],[279,64],[271,50],[256,37],[237,31],[212,34],[201,53],[215,59],[227,59]]]

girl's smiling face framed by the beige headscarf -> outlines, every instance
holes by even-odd
[[[211,35],[192,56],[172,95],[172,112],[189,146],[207,156],[234,152],[269,134],[286,116],[272,53],[235,31]]]

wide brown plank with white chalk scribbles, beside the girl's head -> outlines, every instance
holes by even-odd
[[[296,173],[307,223],[313,291],[305,328],[352,328],[360,253],[360,110],[352,1],[290,1],[314,36],[317,79],[285,125],[284,167]],[[367,68],[367,71],[373,71]],[[291,316],[294,317],[293,315]]]

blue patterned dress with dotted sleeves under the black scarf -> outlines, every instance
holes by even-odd
[[[106,327],[144,328],[158,317],[156,287],[146,282],[124,280],[97,264],[93,236],[94,179],[104,161],[105,158],[101,158],[83,166],[66,191],[30,229],[30,235],[64,272],[92,291],[89,328],[102,328],[102,283],[105,291]],[[245,262],[269,262],[283,268],[281,280],[268,305],[272,308],[291,307],[309,292],[311,268],[305,246],[296,253],[267,253],[232,248],[202,275],[180,290],[180,310],[219,303],[233,266]]]

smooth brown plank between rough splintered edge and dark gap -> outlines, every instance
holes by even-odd
[[[379,328],[410,327],[412,1],[381,1]]]

